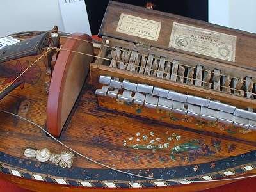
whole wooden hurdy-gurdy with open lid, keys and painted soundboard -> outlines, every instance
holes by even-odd
[[[99,35],[94,50],[57,27],[6,37],[2,177],[33,191],[255,177],[256,35],[114,1]]]

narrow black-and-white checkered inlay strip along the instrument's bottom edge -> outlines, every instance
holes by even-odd
[[[65,178],[51,177],[49,175],[40,175],[39,173],[26,172],[17,170],[15,168],[7,168],[1,165],[0,172],[10,174],[16,177],[22,177],[24,179],[33,179],[42,182],[50,182],[56,184],[70,185],[70,186],[83,186],[90,188],[148,188],[148,187],[164,187],[173,186],[179,184],[191,184],[191,180],[213,180],[221,179],[227,176],[234,176],[237,174],[245,173],[256,168],[256,164],[247,164],[232,168],[230,170],[224,170],[222,172],[215,172],[209,175],[202,175],[199,177],[191,177],[188,179],[180,179],[179,182],[165,182],[155,180],[143,180],[141,182],[120,182],[120,181],[92,181],[92,180],[71,180]]]

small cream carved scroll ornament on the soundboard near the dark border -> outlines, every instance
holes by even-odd
[[[27,148],[24,152],[24,156],[36,158],[40,162],[51,161],[52,163],[59,165],[61,168],[71,168],[74,159],[73,152],[61,152],[60,154],[54,154],[47,148],[43,148],[42,150]]]

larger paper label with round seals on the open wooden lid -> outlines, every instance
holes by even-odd
[[[236,36],[177,22],[173,22],[169,46],[221,60],[236,58]]]

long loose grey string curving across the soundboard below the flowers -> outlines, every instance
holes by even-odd
[[[48,131],[46,131],[42,126],[36,124],[35,122],[33,122],[32,120],[29,120],[28,118],[24,118],[23,116],[17,115],[15,113],[11,113],[9,111],[4,111],[3,109],[0,109],[1,112],[6,113],[8,115],[12,115],[12,116],[16,116],[17,118],[20,118],[20,120],[23,120],[24,122],[27,122],[31,125],[35,125],[36,127],[38,127],[39,129],[41,129],[43,132],[45,132],[45,134],[47,134],[48,136],[50,136],[54,141],[56,141],[57,143],[60,143],[60,145],[62,145],[63,147],[67,148],[68,150],[71,150],[72,152],[74,152],[75,154],[77,154],[80,157],[83,157],[84,159],[87,159],[88,161],[91,161],[92,163],[98,164],[104,168],[108,168],[110,170],[113,170],[115,172],[119,172],[119,173],[124,173],[125,175],[131,175],[134,177],[139,177],[141,179],[148,179],[148,180],[157,180],[157,181],[165,181],[165,182],[191,182],[191,183],[200,183],[200,182],[223,182],[223,181],[228,181],[228,180],[239,180],[239,179],[247,179],[247,178],[251,178],[251,177],[256,177],[255,174],[252,175],[246,175],[246,176],[241,176],[241,177],[229,177],[229,178],[224,178],[224,179],[213,179],[213,180],[184,180],[184,179],[159,179],[156,177],[147,177],[147,176],[143,176],[143,175],[138,175],[135,173],[130,173],[130,172],[125,172],[123,170],[117,169],[117,168],[113,168],[112,166],[108,166],[106,164],[100,163],[84,154],[81,154],[81,152],[78,152],[77,150],[74,150],[74,148],[69,147],[68,145],[66,145],[65,143],[63,143],[62,141],[58,140],[57,138],[55,138],[54,136],[52,136],[52,134],[50,134]]]

